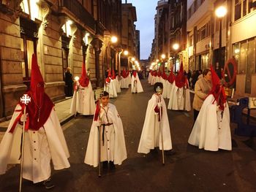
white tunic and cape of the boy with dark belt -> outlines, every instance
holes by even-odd
[[[114,164],[122,164],[127,158],[127,150],[124,141],[124,130],[121,118],[118,115],[116,107],[113,104],[108,104],[106,107],[101,107],[100,118],[102,124],[111,125],[105,126],[104,130],[104,142],[102,141],[103,126],[100,130],[100,141],[101,141],[101,159],[100,161],[113,161]],[[113,123],[113,124],[112,124]],[[86,150],[86,157],[84,160],[85,164],[91,166],[98,166],[98,127],[97,122],[93,121],[91,125],[91,131],[89,135],[89,141]]]

